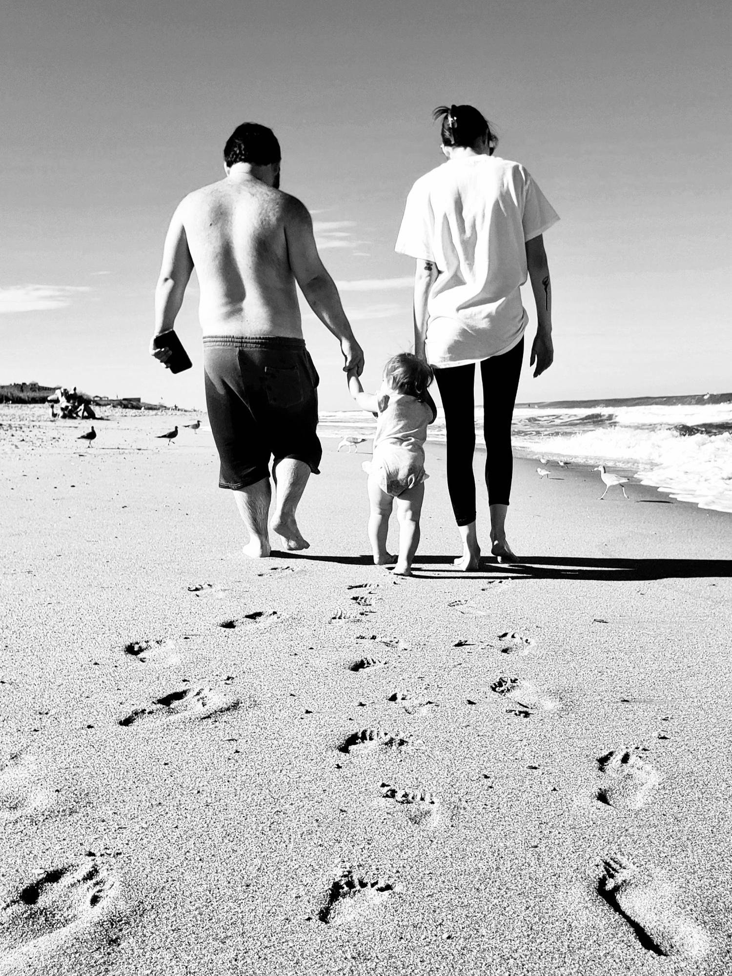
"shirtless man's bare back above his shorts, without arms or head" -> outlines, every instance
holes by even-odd
[[[302,339],[286,235],[288,212],[298,203],[248,174],[229,174],[185,197],[181,220],[204,336]]]

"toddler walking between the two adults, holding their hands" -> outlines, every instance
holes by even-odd
[[[386,551],[391,508],[396,500],[399,520],[397,576],[411,576],[412,560],[420,544],[420,513],[425,497],[425,441],[427,426],[437,416],[428,386],[432,371],[424,359],[410,352],[392,356],[384,368],[378,393],[364,393],[355,370],[348,372],[348,389],[361,410],[377,417],[372,461],[368,470],[369,541],[377,566],[393,562]],[[368,467],[367,467],[368,466]]]

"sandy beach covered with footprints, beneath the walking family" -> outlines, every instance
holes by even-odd
[[[0,407],[0,974],[732,971],[732,516],[518,459],[463,575],[428,445],[396,579],[326,439],[251,561],[193,420]]]

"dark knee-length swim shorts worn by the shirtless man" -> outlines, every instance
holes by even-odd
[[[269,477],[270,457],[320,473],[319,379],[303,339],[204,336],[203,368],[221,488]]]

